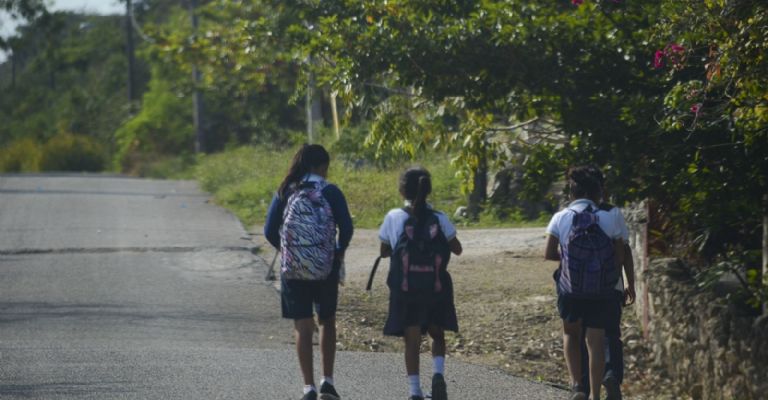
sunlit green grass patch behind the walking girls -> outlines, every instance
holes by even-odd
[[[297,147],[244,146],[200,156],[192,175],[203,190],[214,195],[218,204],[231,210],[245,226],[252,226],[264,222],[272,196],[288,171],[296,150]],[[328,180],[339,186],[347,198],[355,227],[376,228],[387,211],[402,206],[397,190],[398,178],[406,167],[416,163],[378,168],[371,165],[351,166],[341,161],[343,159],[342,154],[334,154],[331,149]],[[430,202],[435,208],[452,217],[457,207],[466,205],[466,196],[460,189],[461,182],[455,176],[448,156],[431,156],[419,165],[432,174]],[[520,227],[542,226],[546,220],[526,221],[515,214],[500,220],[489,210],[480,215],[477,222],[454,222],[470,227]]]

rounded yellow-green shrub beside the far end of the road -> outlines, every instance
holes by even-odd
[[[104,147],[95,139],[59,133],[44,145],[40,158],[43,171],[102,171],[106,166]]]

